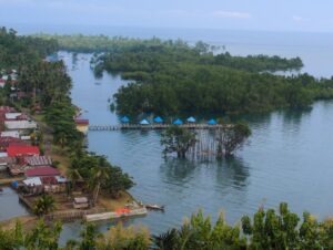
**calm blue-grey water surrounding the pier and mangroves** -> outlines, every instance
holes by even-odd
[[[284,45],[266,44],[263,53],[270,49],[286,55]],[[249,46],[246,51],[251,53]],[[309,71],[327,76],[325,62],[332,65],[331,52],[325,53],[322,48],[322,56],[312,58],[315,52],[302,46],[293,51],[301,55],[307,52],[309,59],[322,60],[320,65],[325,69],[320,72],[317,65],[309,64]],[[73,80],[73,102],[85,111],[90,123],[118,123],[108,101],[125,82],[107,73],[95,80],[89,67],[89,54],[60,55]],[[152,232],[181,225],[184,217],[199,208],[213,218],[224,210],[231,223],[242,215],[252,215],[261,205],[278,207],[281,201],[287,201],[299,213],[307,209],[319,218],[332,216],[333,102],[317,102],[307,111],[280,111],[244,118],[253,129],[250,144],[234,159],[220,163],[164,160],[159,132],[90,132],[89,149],[108,156],[112,164],[133,176],[137,185],[131,192],[138,199],[167,206],[165,213],[150,212],[145,218],[130,220],[147,225]],[[108,226],[102,223],[101,228]],[[65,232],[75,235],[77,228],[78,225],[70,225]]]

